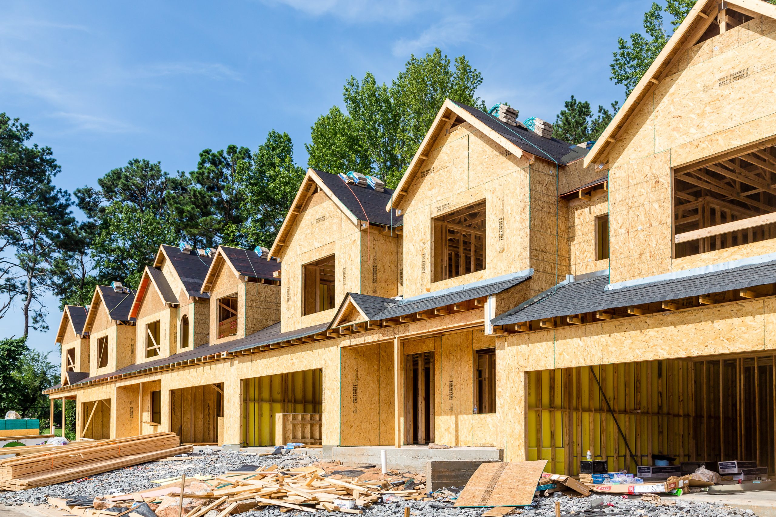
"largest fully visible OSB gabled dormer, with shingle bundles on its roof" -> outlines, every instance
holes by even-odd
[[[449,99],[439,109],[386,203],[404,216],[404,271],[413,272],[404,276],[404,297],[533,269],[516,288],[528,296],[566,276],[559,193],[595,172],[582,168],[586,147],[517,116],[504,104],[486,113]]]

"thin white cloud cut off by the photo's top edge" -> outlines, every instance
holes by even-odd
[[[309,16],[334,16],[348,22],[397,21],[428,10],[420,0],[263,0],[288,5]]]

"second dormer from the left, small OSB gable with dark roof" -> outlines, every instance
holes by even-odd
[[[102,375],[129,366],[135,358],[135,319],[130,309],[135,291],[113,282],[96,286],[86,315],[89,334],[89,375]]]

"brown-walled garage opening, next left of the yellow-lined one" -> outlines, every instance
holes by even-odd
[[[170,430],[181,437],[182,443],[220,445],[223,383],[170,390],[170,402]]]

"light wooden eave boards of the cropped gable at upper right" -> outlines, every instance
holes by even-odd
[[[724,2],[729,9],[741,12],[748,16],[767,16],[776,19],[776,5],[771,5],[764,0],[729,0]],[[699,0],[690,10],[687,17],[674,34],[657,54],[655,61],[643,75],[636,88],[625,99],[622,108],[617,112],[609,125],[598,138],[590,153],[584,158],[584,166],[593,162],[603,163],[612,144],[617,141],[618,134],[626,127],[631,116],[641,105],[641,102],[650,97],[653,89],[666,78],[674,60],[694,46],[706,29],[714,22],[719,13],[719,0]]]

